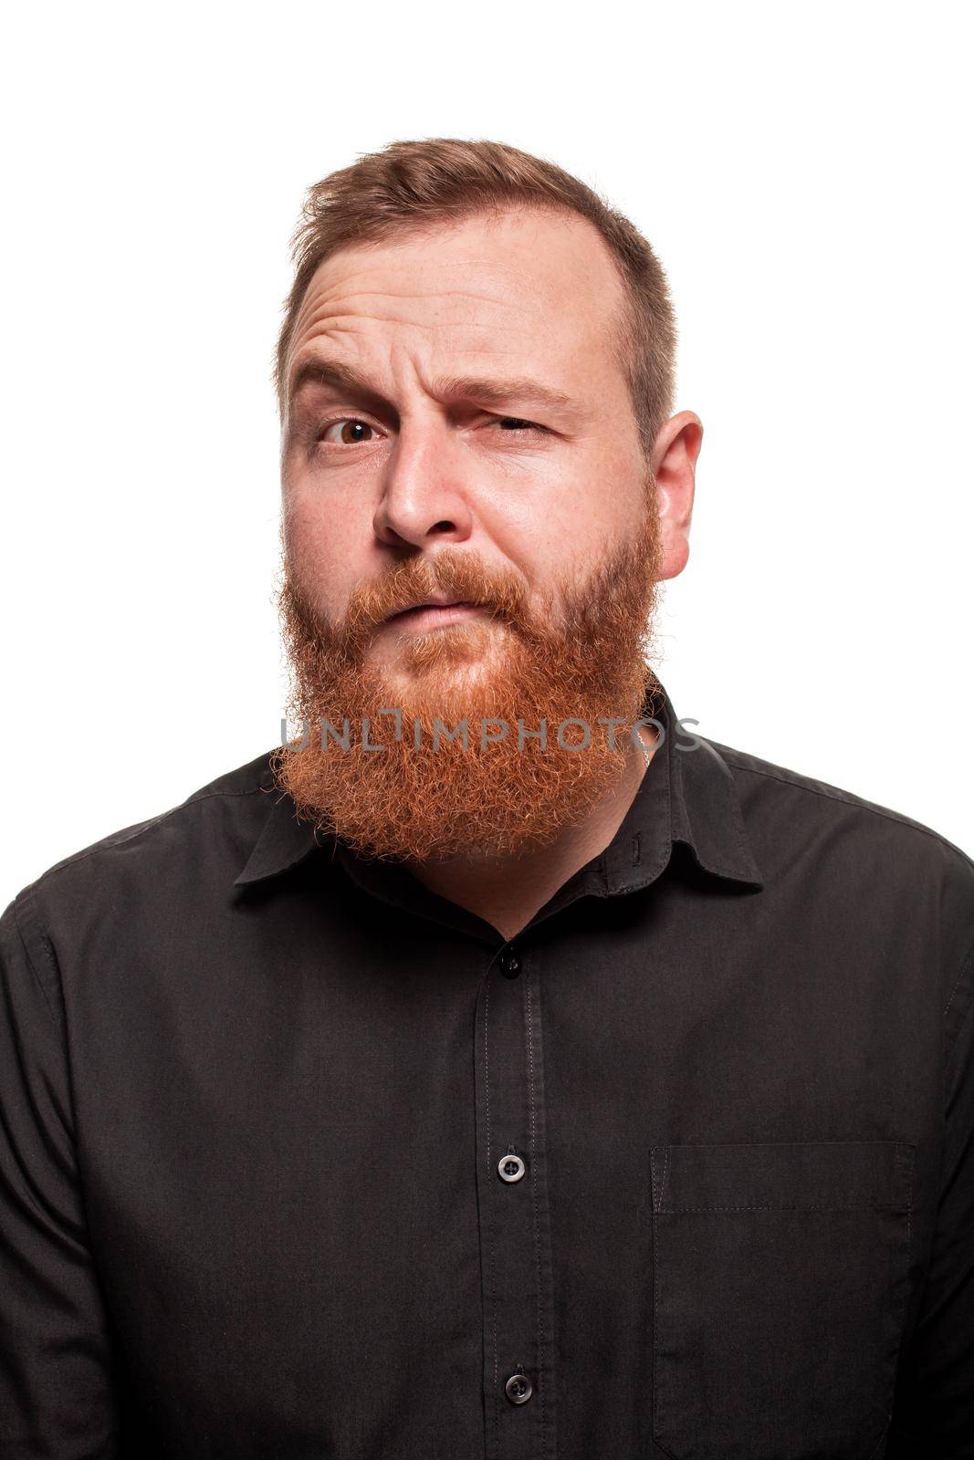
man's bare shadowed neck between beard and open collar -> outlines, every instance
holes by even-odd
[[[409,872],[431,892],[476,912],[504,939],[513,939],[580,867],[605,851],[618,832],[656,752],[653,730],[643,726],[640,734],[645,749],[632,746],[616,785],[581,822],[567,826],[546,847],[511,857],[431,857],[406,863]]]

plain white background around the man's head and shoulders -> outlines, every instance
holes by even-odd
[[[19,6],[0,904],[277,743],[288,239],[428,136],[552,158],[669,273],[705,428],[678,714],[974,851],[968,13]]]

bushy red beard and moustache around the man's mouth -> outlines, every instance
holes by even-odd
[[[307,748],[289,743],[272,756],[277,787],[302,819],[359,856],[514,856],[552,842],[621,781],[632,755],[629,726],[657,688],[647,657],[659,561],[654,491],[637,536],[539,610],[514,575],[489,572],[478,555],[456,549],[412,558],[362,584],[333,625],[285,558],[288,710],[301,724],[299,743],[305,727],[310,734]],[[367,657],[377,628],[434,593],[483,609],[409,634],[399,651],[406,673],[391,676]],[[381,714],[391,710],[402,712],[400,739],[396,717]],[[600,718],[625,724],[610,729]],[[342,736],[346,720],[349,748],[327,726],[323,748],[326,721]],[[447,737],[463,720],[466,748],[460,736]],[[507,734],[491,739],[501,733],[498,721]],[[530,734],[542,721],[545,746]],[[383,749],[368,748],[377,745]]]

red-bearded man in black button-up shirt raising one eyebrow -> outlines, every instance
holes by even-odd
[[[682,733],[663,270],[551,162],[311,188],[296,734],[3,915],[0,1453],[974,1454],[974,867]]]

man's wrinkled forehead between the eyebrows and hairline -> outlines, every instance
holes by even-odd
[[[326,346],[375,364],[397,345],[431,368],[602,374],[615,364],[624,307],[615,260],[586,219],[551,209],[478,215],[327,258],[295,320],[288,380]]]

